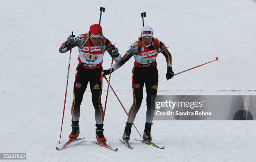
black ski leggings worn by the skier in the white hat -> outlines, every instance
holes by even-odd
[[[133,105],[128,114],[127,122],[133,123],[136,114],[141,107],[143,98],[143,86],[146,86],[146,122],[151,123],[154,117],[154,105],[157,87],[158,87],[158,71],[156,67],[133,67],[132,84],[133,84]],[[152,103],[151,103],[152,102]]]

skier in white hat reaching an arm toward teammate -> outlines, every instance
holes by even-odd
[[[121,62],[115,63],[113,71],[121,67],[132,56],[135,62],[132,72],[132,87],[133,87],[133,105],[131,106],[128,119],[125,123],[123,139],[130,140],[131,127],[136,114],[141,107],[143,97],[143,86],[146,86],[146,124],[143,133],[143,139],[151,141],[151,126],[154,117],[154,107],[151,107],[151,101],[155,102],[155,97],[158,87],[158,71],[156,68],[156,57],[161,52],[166,57],[167,73],[166,78],[171,79],[174,76],[172,71],[172,55],[165,47],[164,43],[153,37],[153,29],[149,26],[142,27],[141,37],[134,42],[123,56]],[[109,70],[104,70],[104,75],[108,75]],[[151,98],[152,97],[152,98]]]

